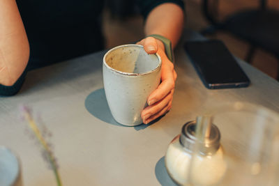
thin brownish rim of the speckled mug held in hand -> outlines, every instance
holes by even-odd
[[[142,45],[137,45],[137,44],[126,44],[126,45],[119,45],[119,46],[116,46],[116,47],[113,47],[112,49],[108,50],[106,53],[105,53],[105,56],[103,57],[103,64],[105,65],[106,68],[114,71],[114,72],[117,72],[121,75],[127,75],[127,76],[138,76],[138,75],[148,75],[152,72],[155,72],[155,71],[158,71],[160,70],[161,66],[162,66],[162,59],[160,58],[160,55],[159,54],[154,54],[157,56],[158,60],[159,60],[159,63],[158,65],[156,66],[156,68],[154,68],[153,70],[149,70],[147,72],[144,72],[144,73],[133,73],[133,72],[122,72],[120,70],[115,70],[114,68],[111,68],[109,65],[107,65],[107,62],[105,61],[105,58],[107,56],[107,54],[109,54],[110,52],[116,50],[116,49],[119,49],[121,47],[140,47],[140,48],[144,48],[144,46]]]

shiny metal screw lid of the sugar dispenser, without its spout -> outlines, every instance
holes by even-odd
[[[204,138],[200,141],[196,138],[196,121],[190,121],[183,125],[181,135],[179,138],[180,144],[193,152],[197,141],[198,152],[203,155],[213,155],[216,153],[220,146],[220,131],[213,123],[210,125],[209,137]]]

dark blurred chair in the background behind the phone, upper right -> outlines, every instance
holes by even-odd
[[[218,5],[214,0],[215,5]],[[202,34],[214,33],[217,30],[228,31],[237,38],[250,44],[246,61],[250,63],[256,48],[262,48],[273,54],[279,60],[279,11],[266,7],[266,0],[259,0],[259,7],[241,10],[229,15],[222,22],[216,19],[214,12],[209,8],[209,1],[202,4],[203,13],[211,26],[204,29]],[[216,8],[216,7],[215,7]],[[279,61],[278,61],[279,62]],[[279,63],[277,79],[279,80]]]

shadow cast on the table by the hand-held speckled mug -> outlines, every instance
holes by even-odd
[[[90,93],[85,99],[85,107],[90,114],[92,114],[96,118],[99,118],[101,121],[105,121],[105,123],[110,123],[119,127],[127,127],[125,125],[117,123],[114,120],[112,113],[110,112],[110,107],[107,104],[107,99],[105,98],[104,88],[100,88]],[[156,119],[156,121],[158,121],[159,119],[160,118]],[[156,121],[149,123],[149,125],[137,125],[134,128],[135,130],[143,130],[153,123],[156,123]]]

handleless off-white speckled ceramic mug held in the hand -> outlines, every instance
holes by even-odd
[[[121,45],[103,58],[103,81],[107,103],[122,125],[142,123],[140,116],[148,96],[160,84],[162,61],[147,54],[142,45]]]

